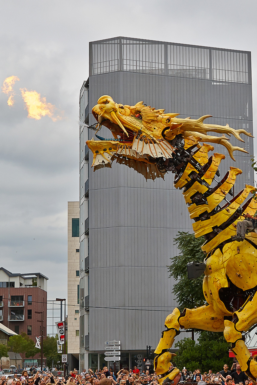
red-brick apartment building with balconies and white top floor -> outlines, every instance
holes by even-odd
[[[43,333],[46,336],[47,280],[41,273],[11,273],[0,268],[0,323],[17,334],[25,332],[34,341],[41,335],[41,314],[43,312]]]

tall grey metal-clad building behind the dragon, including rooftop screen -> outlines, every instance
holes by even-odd
[[[91,42],[81,121],[95,123],[91,109],[101,95],[130,105],[143,100],[181,117],[210,114],[206,122],[252,132],[250,52],[127,37]],[[105,365],[107,340],[121,341],[120,368],[140,368],[146,345],[157,345],[176,306],[167,271],[178,253],[173,238],[193,230],[171,173],[165,181],[146,182],[116,163],[93,172],[85,145],[93,134],[80,127],[80,368]],[[112,137],[104,127],[99,134]],[[221,176],[229,166],[243,170],[235,193],[254,180],[253,140],[243,139],[249,155],[237,152],[236,163],[215,145],[215,152],[227,155]]]

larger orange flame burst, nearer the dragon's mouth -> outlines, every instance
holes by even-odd
[[[42,97],[36,91],[28,91],[26,88],[20,89],[23,100],[28,111],[28,118],[39,120],[42,116],[49,116],[52,121],[61,119],[59,116],[54,117],[55,105],[46,102],[46,98]]]

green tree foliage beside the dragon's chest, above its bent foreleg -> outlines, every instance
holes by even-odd
[[[174,244],[177,245],[180,253],[171,258],[171,266],[167,266],[171,273],[169,277],[174,277],[178,281],[173,286],[173,293],[178,301],[178,308],[182,311],[184,308],[194,308],[205,303],[203,296],[203,275],[194,280],[188,279],[188,262],[203,262],[205,254],[201,245],[205,242],[203,237],[195,238],[194,234],[179,231],[178,236],[174,238]]]

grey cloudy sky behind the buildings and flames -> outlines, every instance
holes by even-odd
[[[252,51],[256,120],[256,4],[0,1],[1,85],[11,75],[20,79],[14,107],[0,93],[0,266],[40,271],[49,277],[49,300],[66,295],[67,201],[79,199],[78,101],[88,77],[88,42],[122,35]],[[65,119],[27,118],[20,88],[39,92]]]

